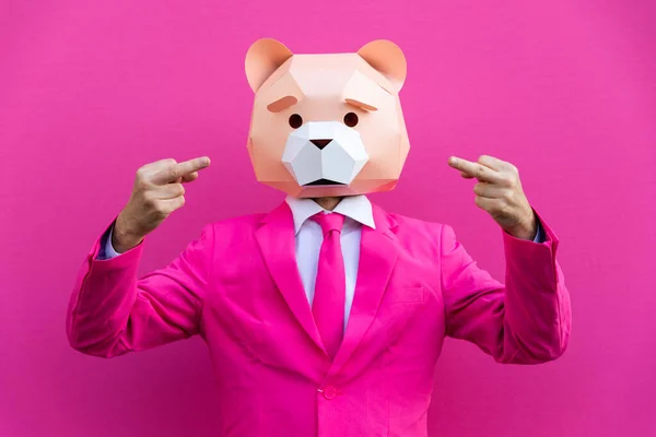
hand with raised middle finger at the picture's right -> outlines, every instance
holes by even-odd
[[[535,238],[538,222],[513,164],[483,155],[478,163],[452,156],[448,165],[460,170],[466,179],[478,179],[473,186],[476,204],[489,212],[505,232],[520,239]]]

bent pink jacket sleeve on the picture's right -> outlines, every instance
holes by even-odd
[[[447,335],[475,343],[500,363],[537,364],[564,353],[572,323],[570,295],[555,261],[558,238],[540,223],[541,244],[503,233],[505,286],[479,269],[454,231],[443,226]]]

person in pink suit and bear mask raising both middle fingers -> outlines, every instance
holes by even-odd
[[[386,91],[396,83],[398,92],[402,81],[379,72],[401,70],[375,59],[398,62],[398,48],[390,44],[376,42],[375,50],[370,44],[348,59],[355,59],[359,71],[376,78]],[[249,71],[250,56],[259,57],[250,67],[270,71]],[[262,56],[276,62],[261,62]],[[340,155],[343,166],[359,165],[348,156],[356,156],[353,151],[361,143],[365,164],[376,164],[382,155],[372,152],[367,126],[360,127],[358,138],[349,137],[355,129],[352,116],[344,116],[345,128],[335,125],[341,123],[337,115],[328,121],[325,114],[312,116],[308,105],[315,97],[307,87],[300,86],[304,107],[301,98],[286,98],[288,91],[282,97],[268,92],[281,81],[281,69],[303,83],[304,74],[319,74],[309,67],[324,69],[325,62],[336,60],[325,55],[294,58],[303,56],[309,58],[295,63],[303,70],[293,70],[291,52],[278,42],[260,40],[247,57],[256,91],[249,152],[258,178],[284,186],[285,201],[267,214],[207,225],[168,265],[138,277],[144,239],[184,205],[185,186],[210,160],[163,160],[139,168],[129,201],[83,262],[69,306],[68,338],[80,352],[114,357],[200,335],[216,376],[222,436],[425,436],[434,367],[445,336],[472,342],[499,363],[538,364],[563,354],[571,308],[555,261],[559,240],[531,208],[517,168],[492,156],[477,162],[452,156],[448,165],[477,180],[476,204],[502,229],[505,285],[476,264],[450,226],[372,204],[366,192],[390,189],[389,177],[373,177],[362,165],[348,172],[349,180],[336,182],[338,173],[312,167],[312,160],[302,161],[305,173],[298,172],[294,160],[304,160],[304,153],[325,157],[342,147],[350,153]],[[267,82],[272,74],[277,81]],[[344,81],[349,79],[336,79],[338,88]],[[259,105],[260,94],[276,105]],[[375,117],[384,105],[400,108],[398,102],[374,99],[376,113],[364,99],[336,108],[348,105],[356,111],[349,114],[356,114],[363,125],[370,120],[379,134],[384,128]],[[301,110],[303,122],[294,117]],[[280,153],[254,144],[260,125],[269,126],[268,132],[278,129],[263,119],[285,120],[280,138],[296,135],[286,143],[276,140]],[[326,139],[328,131],[333,138]],[[267,141],[271,138],[276,133]],[[394,144],[399,146],[398,141]],[[292,146],[295,154],[285,166]],[[268,178],[272,173],[261,166],[266,160],[269,167],[280,163],[286,168],[284,185]],[[384,165],[373,167],[386,172]],[[314,175],[311,181],[298,182],[308,174]],[[361,192],[344,191],[362,180]]]

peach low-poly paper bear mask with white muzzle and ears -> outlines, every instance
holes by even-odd
[[[410,143],[398,93],[406,58],[388,40],[356,54],[293,55],[259,39],[248,152],[257,179],[298,198],[391,190]]]

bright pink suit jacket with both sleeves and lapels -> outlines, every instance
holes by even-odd
[[[559,357],[570,299],[558,240],[504,234],[506,285],[480,270],[449,226],[374,206],[363,226],[344,340],[331,361],[303,291],[292,214],[213,223],[167,267],[137,279],[143,245],[81,269],[71,345],[103,357],[200,334],[218,381],[221,436],[426,436],[445,335],[501,363]]]

